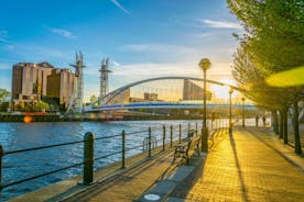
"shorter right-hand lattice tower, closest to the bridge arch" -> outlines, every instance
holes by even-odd
[[[109,77],[108,74],[111,72],[109,70],[109,58],[104,58],[101,61],[100,71],[100,92],[99,98],[102,98],[105,94],[109,92]]]

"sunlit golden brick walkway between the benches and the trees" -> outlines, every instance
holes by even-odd
[[[278,144],[268,130],[221,138],[169,201],[304,201],[303,157]]]

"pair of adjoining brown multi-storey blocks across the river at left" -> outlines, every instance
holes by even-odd
[[[46,61],[13,65],[12,109],[31,111],[35,103],[47,97],[66,105],[73,93],[74,77],[69,69],[55,69]]]

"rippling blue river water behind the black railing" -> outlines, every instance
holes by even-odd
[[[24,149],[37,146],[53,145],[80,141],[86,132],[93,132],[95,137],[119,135],[121,131],[127,132],[126,147],[131,148],[143,144],[148,137],[148,127],[152,127],[152,136],[160,139],[162,144],[162,125],[165,124],[169,134],[169,126],[174,127],[174,139],[178,138],[178,124],[182,124],[183,135],[186,136],[188,123],[195,128],[202,127],[202,121],[119,121],[119,122],[61,122],[61,123],[0,123],[0,144],[4,152]],[[224,121],[220,122],[221,124]],[[226,124],[227,120],[225,121]],[[214,123],[214,126],[218,123]],[[210,122],[208,122],[210,128]],[[128,135],[132,132],[142,132]],[[169,136],[169,135],[167,135]],[[170,139],[167,138],[166,142]],[[121,150],[121,137],[106,138],[95,142],[95,157]],[[142,147],[130,150],[127,156],[142,152]],[[95,162],[95,169],[119,160],[121,154],[100,159]],[[47,148],[42,150],[18,153],[4,155],[2,159],[2,184],[8,184],[17,180],[33,177],[83,161],[83,144]],[[68,179],[82,173],[83,167],[64,170],[51,176],[8,187],[2,190],[1,200],[24,194],[51,183]]]

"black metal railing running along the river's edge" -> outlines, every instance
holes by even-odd
[[[219,122],[219,125],[222,125],[222,124],[225,124],[225,123]],[[195,131],[197,131],[197,125],[198,124],[196,123]],[[91,137],[90,137],[91,142],[88,142],[89,139],[86,139],[86,137],[85,137],[82,141],[74,141],[74,142],[61,143],[61,144],[54,144],[54,145],[45,145],[45,146],[40,146],[40,147],[32,147],[32,148],[24,148],[24,149],[9,150],[9,152],[3,152],[3,149],[1,152],[1,149],[0,149],[0,189],[8,188],[8,187],[11,187],[11,186],[14,186],[14,184],[22,183],[22,182],[26,182],[26,181],[30,181],[30,180],[34,180],[34,179],[37,179],[37,178],[41,178],[41,177],[45,177],[45,176],[48,176],[48,175],[52,175],[52,173],[56,173],[56,172],[59,172],[59,171],[63,171],[63,170],[67,170],[67,169],[74,168],[74,167],[78,167],[78,166],[82,166],[82,165],[84,165],[84,179],[85,179],[85,173],[87,171],[85,169],[88,169],[88,168],[86,168],[87,162],[91,164],[90,169],[93,169],[94,161],[97,161],[99,159],[105,159],[105,158],[108,158],[108,157],[111,157],[111,156],[115,156],[115,155],[119,155],[119,154],[122,154],[122,156],[121,156],[120,159],[122,159],[122,168],[124,168],[124,155],[126,155],[124,153],[142,147],[142,145],[135,145],[135,146],[132,146],[132,147],[126,147],[126,138],[124,138],[126,136],[131,136],[131,135],[137,135],[137,134],[143,134],[144,135],[143,137],[148,138],[148,143],[146,144],[148,144],[148,152],[149,152],[149,157],[150,157],[151,156],[151,150],[158,147],[158,143],[159,142],[161,143],[160,144],[161,146],[162,146],[162,144],[167,144],[167,145],[170,145],[170,147],[172,147],[173,146],[173,142],[175,143],[175,142],[177,142],[181,138],[187,137],[188,132],[191,131],[191,126],[194,127],[193,125],[189,125],[189,124],[187,126],[186,125],[182,126],[181,124],[176,124],[176,125],[164,124],[162,126],[149,127],[149,130],[135,131],[135,132],[130,132],[130,133],[126,133],[124,131],[122,131],[121,134],[108,135],[108,136],[104,136],[104,137],[99,136],[99,137],[96,137],[96,138],[94,138],[94,135],[90,133],[90,135],[91,135]],[[153,132],[161,131],[161,130],[163,131],[162,135],[161,135],[161,133],[156,133],[158,134],[156,136],[153,136],[154,134],[151,134]],[[91,153],[91,156],[93,156],[91,160],[93,160],[93,162],[90,162],[90,160],[88,160],[88,159],[85,159],[85,157],[84,157],[84,160],[82,162],[76,162],[74,165],[66,166],[64,168],[58,168],[56,170],[47,171],[47,172],[44,172],[44,173],[41,173],[41,175],[37,175],[37,176],[24,178],[24,179],[17,180],[14,182],[10,182],[10,183],[7,183],[7,184],[1,184],[1,173],[2,173],[1,165],[2,165],[2,157],[3,156],[11,155],[11,154],[32,152],[32,150],[41,150],[41,149],[53,148],[53,147],[75,145],[75,144],[80,144],[80,143],[84,143],[84,145],[85,145],[84,149],[86,149],[87,144],[91,144],[90,148],[94,148],[94,141],[102,141],[102,139],[113,138],[113,137],[121,137],[121,139],[122,139],[122,143],[121,143],[122,148],[118,149],[117,152],[112,152],[112,153],[109,153],[109,154],[106,154],[106,155],[102,155],[102,156],[99,156],[99,157],[94,157],[93,149],[89,150],[89,152],[86,150],[86,153]],[[152,143],[151,141],[152,139],[154,139],[154,142],[156,144],[156,146],[154,146],[154,147],[151,146],[151,143]],[[0,145],[0,147],[2,148],[1,145]],[[165,150],[165,146],[163,146],[163,150]],[[144,153],[144,152],[142,152],[142,153]]]

